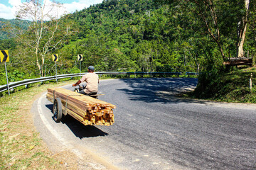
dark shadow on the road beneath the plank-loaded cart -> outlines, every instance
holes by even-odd
[[[46,105],[50,111],[53,111],[53,104]],[[53,120],[54,121],[54,120]],[[70,128],[70,130],[74,133],[76,137],[80,139],[84,137],[98,137],[98,136],[106,136],[108,133],[103,132],[99,128],[96,128],[93,125],[82,125],[78,120],[71,117],[70,115],[65,115],[61,123],[65,124]]]

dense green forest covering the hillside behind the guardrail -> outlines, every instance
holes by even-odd
[[[83,55],[82,72],[89,65],[94,65],[97,72],[218,72],[223,60],[238,56],[238,32],[245,23],[240,57],[256,55],[255,1],[250,1],[248,8],[244,0],[196,2],[105,0],[63,16],[58,29],[75,31],[62,39],[61,47],[49,46],[53,50],[46,52],[43,62],[39,61],[41,70],[33,49],[24,41],[1,36],[0,48],[9,50],[11,81],[53,75],[53,53],[60,56],[59,74],[79,72],[78,54]],[[26,29],[20,37],[31,35]],[[49,32],[47,27],[43,31]],[[53,42],[58,38],[62,38],[61,33]],[[46,40],[42,39],[39,47]],[[4,75],[3,64],[0,69]]]

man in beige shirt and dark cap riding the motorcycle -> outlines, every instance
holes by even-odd
[[[78,82],[73,84],[72,86],[78,86],[82,82],[86,82],[85,89],[79,91],[80,94],[85,95],[96,95],[98,91],[98,84],[100,83],[99,76],[95,74],[95,68],[93,66],[88,67],[88,73],[83,75]]]

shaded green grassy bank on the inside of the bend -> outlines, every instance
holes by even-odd
[[[252,90],[250,76],[252,73]],[[256,69],[255,67],[237,69],[233,72],[220,74],[208,82],[199,81],[195,91],[189,96],[234,103],[256,103]]]

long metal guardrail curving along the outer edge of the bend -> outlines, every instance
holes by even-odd
[[[104,74],[105,75],[106,74],[107,75],[176,75],[176,76],[182,75],[181,72],[95,72],[95,73],[99,74],[99,75],[104,75]],[[49,80],[53,80],[53,79],[80,77],[83,74],[87,74],[87,73],[62,74],[62,75],[57,75],[57,77],[51,76],[51,77],[40,77],[40,78],[36,78],[36,79],[24,79],[22,81],[10,82],[9,89],[14,89],[15,87],[18,87],[18,86],[26,86],[28,84],[49,81]],[[187,72],[186,75],[198,75],[198,74]],[[0,86],[0,93],[3,91],[7,91],[7,90],[8,90],[7,84]]]

